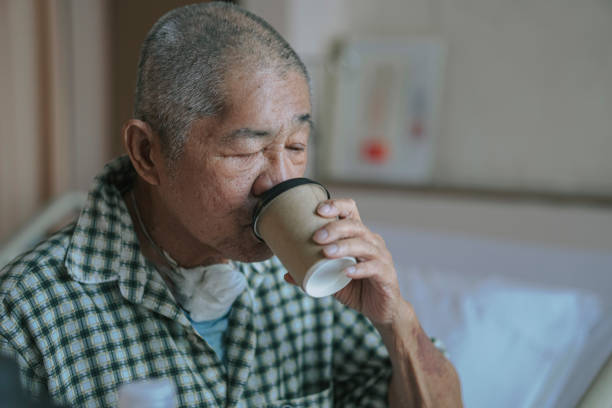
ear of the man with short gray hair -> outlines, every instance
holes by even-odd
[[[151,126],[142,120],[128,120],[123,126],[123,145],[140,177],[151,185],[159,185],[164,160],[161,141]]]

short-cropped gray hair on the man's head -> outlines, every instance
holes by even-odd
[[[310,81],[287,41],[233,4],[181,7],[153,25],[140,51],[134,116],[159,135],[170,164],[181,156],[193,121],[223,109],[224,81],[238,67],[294,70]]]

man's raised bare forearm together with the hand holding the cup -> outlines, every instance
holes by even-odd
[[[384,240],[359,217],[353,200],[328,200],[317,213],[330,222],[314,242],[327,258],[354,256],[353,280],[334,296],[366,316],[387,347],[392,375],[390,407],[461,407],[461,384],[452,364],[429,341],[412,306],[400,295],[397,274]],[[285,279],[294,283],[287,274]]]

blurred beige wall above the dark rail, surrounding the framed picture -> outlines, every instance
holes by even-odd
[[[443,40],[449,52],[436,150],[441,184],[612,196],[612,2],[243,4],[286,36],[319,91],[334,38]],[[333,109],[321,98],[316,103]]]

